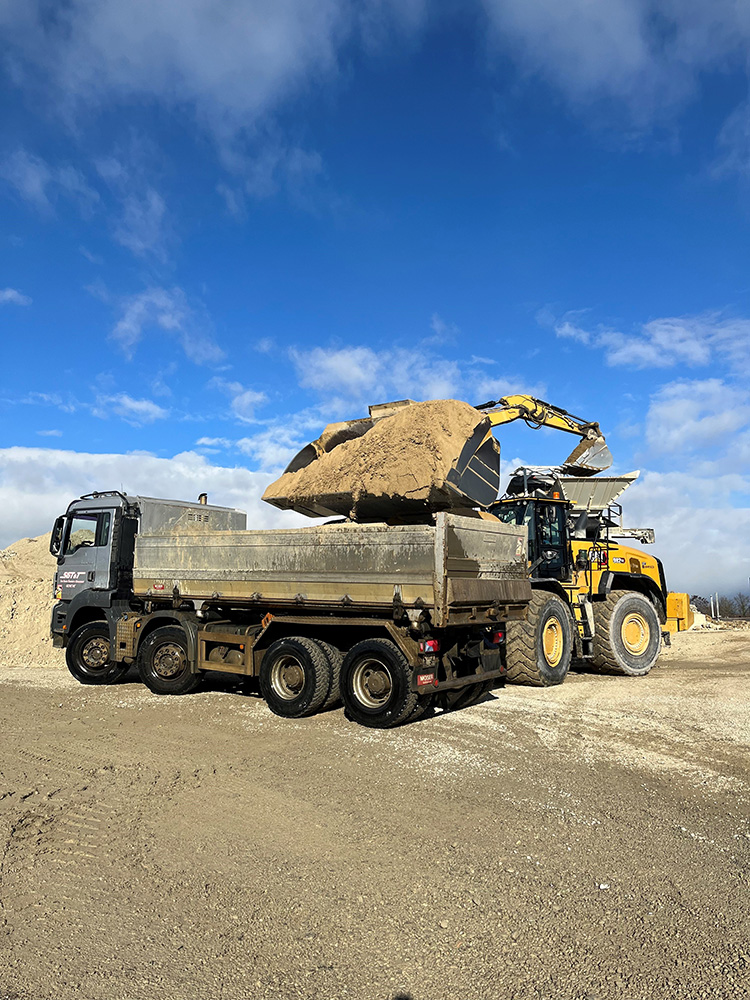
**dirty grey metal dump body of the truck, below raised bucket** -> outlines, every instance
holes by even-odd
[[[441,513],[434,525],[139,534],[133,591],[296,613],[422,608],[442,627],[525,605],[527,566],[525,528]]]

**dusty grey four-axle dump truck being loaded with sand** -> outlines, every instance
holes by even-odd
[[[81,683],[135,663],[183,694],[226,671],[287,717],[341,699],[385,728],[470,704],[504,676],[506,623],[531,599],[527,533],[428,520],[248,531],[229,508],[90,494],[52,532],[53,639]]]

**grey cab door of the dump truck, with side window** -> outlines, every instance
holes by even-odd
[[[64,601],[83,590],[110,589],[113,515],[111,510],[70,514],[57,560],[57,587]]]

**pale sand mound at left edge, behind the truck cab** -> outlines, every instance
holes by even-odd
[[[49,634],[56,562],[49,535],[23,538],[0,551],[0,663],[62,667]]]

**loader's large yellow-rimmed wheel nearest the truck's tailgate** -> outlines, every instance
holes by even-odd
[[[526,620],[506,626],[505,679],[531,687],[562,684],[572,655],[573,623],[567,605],[546,590],[535,590]]]

